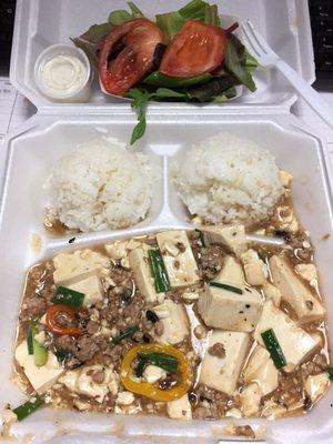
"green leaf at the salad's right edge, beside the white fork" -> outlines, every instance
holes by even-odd
[[[252,75],[245,70],[245,47],[232,33],[228,33],[226,53],[224,59],[225,69],[239,80],[240,83],[255,91]]]

